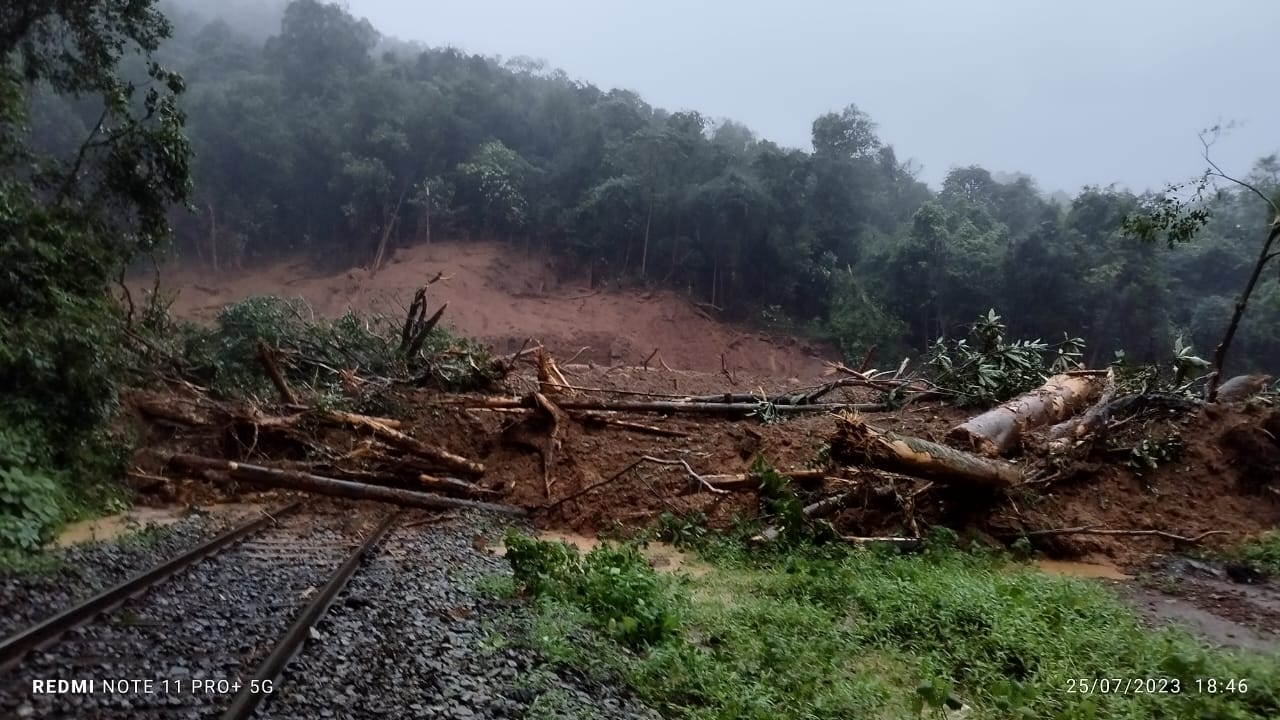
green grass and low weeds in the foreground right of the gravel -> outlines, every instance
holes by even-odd
[[[1280,661],[1148,630],[1096,583],[937,546],[919,556],[717,547],[695,579],[655,577],[618,551],[603,561],[526,546],[516,583],[535,596],[532,644],[623,678],[672,717],[941,716],[948,697],[969,717],[1280,717]],[[653,632],[620,630],[637,619]],[[1078,678],[1160,676],[1181,694],[1069,692]],[[1248,692],[1197,693],[1197,678],[1245,678]]]

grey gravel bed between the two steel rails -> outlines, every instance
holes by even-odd
[[[287,515],[180,570],[0,674],[0,715],[209,717],[247,682],[297,610],[367,528],[337,511]],[[32,680],[92,680],[92,692],[35,693]],[[108,682],[131,682],[128,689]],[[136,685],[133,680],[150,682]],[[196,682],[211,685],[197,687]]]

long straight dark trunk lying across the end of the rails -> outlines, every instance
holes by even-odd
[[[494,502],[481,502],[476,500],[461,500],[444,497],[417,491],[384,488],[353,483],[351,480],[337,480],[303,473],[301,470],[280,470],[264,468],[261,465],[247,465],[232,460],[214,457],[200,457],[197,455],[174,455],[170,464],[187,470],[214,470],[225,471],[232,479],[244,483],[253,483],[265,487],[296,489],[330,497],[347,497],[352,500],[372,500],[378,502],[390,502],[406,507],[426,507],[430,510],[481,510],[512,518],[522,518],[527,511],[513,505],[499,505]]]

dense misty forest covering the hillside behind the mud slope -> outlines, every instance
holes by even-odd
[[[593,283],[676,288],[850,356],[918,354],[995,309],[1011,336],[1082,337],[1105,364],[1117,350],[1167,359],[1179,336],[1207,354],[1270,222],[1229,186],[1207,196],[1194,242],[1140,242],[1121,223],[1149,196],[1050,197],[980,167],[934,191],[852,104],[813,122],[812,151],[788,149],[538,61],[397,41],[339,5],[252,10],[166,5],[174,36],[156,54],[186,79],[195,151],[175,252],[210,268],[300,252],[372,265],[397,246],[500,240]],[[37,100],[50,149],[77,147],[96,119]],[[1275,155],[1240,174],[1280,188]],[[1280,366],[1277,325],[1272,277],[1231,369]]]

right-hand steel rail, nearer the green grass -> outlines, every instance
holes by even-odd
[[[342,588],[347,585],[347,582],[360,564],[369,556],[374,546],[376,546],[383,537],[392,529],[396,520],[399,518],[399,512],[393,512],[388,515],[374,532],[369,533],[369,537],[361,543],[360,547],[342,564],[340,568],[333,574],[329,582],[321,589],[306,607],[298,614],[289,629],[284,632],[280,642],[271,651],[271,655],[262,661],[253,673],[253,678],[250,680],[241,680],[241,688],[232,698],[232,703],[223,712],[221,720],[244,720],[253,716],[253,711],[257,710],[259,703],[262,702],[264,697],[268,697],[276,688],[274,687],[284,670],[284,666],[289,664],[298,648],[307,639],[311,633],[311,626],[316,624],[320,618],[324,616],[325,611],[333,603],[333,600],[338,597]],[[266,689],[270,688],[270,689]]]

